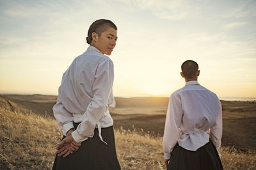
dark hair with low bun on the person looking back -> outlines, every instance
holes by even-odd
[[[108,27],[117,30],[116,25],[111,20],[100,19],[93,22],[89,27],[86,42],[90,45],[90,43],[92,43],[92,33],[95,32],[100,36],[102,32],[108,29]]]

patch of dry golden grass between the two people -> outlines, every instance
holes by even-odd
[[[163,169],[162,139],[142,130],[115,131],[116,152],[122,169]]]

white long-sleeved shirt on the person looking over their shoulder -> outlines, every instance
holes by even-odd
[[[72,137],[77,143],[92,138],[94,129],[113,125],[109,114],[113,97],[114,67],[112,60],[94,46],[74,59],[62,76],[57,103],[52,110],[58,127],[66,135],[81,122]],[[100,130],[100,129],[99,129]]]

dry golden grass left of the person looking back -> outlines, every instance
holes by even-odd
[[[61,138],[52,118],[0,108],[1,169],[51,169]]]

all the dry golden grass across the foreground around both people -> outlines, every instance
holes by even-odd
[[[51,169],[54,146],[61,132],[51,117],[22,108],[0,108],[0,169]],[[122,169],[164,169],[162,138],[142,130],[115,130],[116,152]],[[256,155],[221,148],[224,169],[255,169]]]

